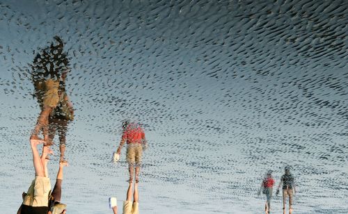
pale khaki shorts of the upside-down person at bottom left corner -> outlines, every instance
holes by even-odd
[[[51,192],[51,181],[43,176],[35,176],[26,192],[23,204],[27,206],[48,206],[48,195]]]

